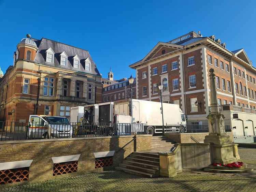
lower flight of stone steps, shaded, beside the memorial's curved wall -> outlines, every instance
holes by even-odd
[[[120,163],[117,170],[146,177],[159,175],[159,156],[154,153],[133,152]]]

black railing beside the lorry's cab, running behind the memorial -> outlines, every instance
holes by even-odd
[[[224,119],[225,131],[231,132],[229,119]],[[186,124],[166,124],[165,133],[208,133],[208,119],[187,120]]]

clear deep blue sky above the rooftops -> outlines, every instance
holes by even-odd
[[[229,50],[244,48],[256,65],[256,1],[0,0],[0,67],[13,63],[26,34],[89,50],[106,77],[135,75],[128,67],[159,42],[190,31],[215,35]]]

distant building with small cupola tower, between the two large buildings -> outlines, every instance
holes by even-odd
[[[114,73],[110,69],[110,72],[108,73],[108,78],[102,78],[101,81],[103,84],[102,103],[130,99],[131,87],[132,98],[136,99],[135,78],[133,84],[129,84],[129,80],[126,77],[119,80],[114,80]]]

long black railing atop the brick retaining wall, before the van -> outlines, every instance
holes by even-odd
[[[143,123],[0,122],[0,141],[146,134]]]

